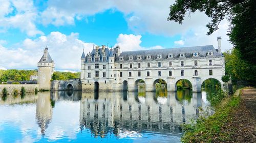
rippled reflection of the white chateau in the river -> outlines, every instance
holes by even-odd
[[[96,98],[95,98],[96,97]],[[121,130],[181,133],[180,124],[198,116],[201,93],[82,93],[80,129],[97,137],[118,136]]]

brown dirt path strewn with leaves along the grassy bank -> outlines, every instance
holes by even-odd
[[[238,110],[232,113],[232,121],[225,126],[231,142],[256,142],[256,89],[244,89]]]

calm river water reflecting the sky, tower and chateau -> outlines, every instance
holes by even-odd
[[[207,93],[45,92],[1,97],[0,142],[180,142]]]

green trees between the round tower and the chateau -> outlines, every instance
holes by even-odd
[[[80,72],[59,72],[56,71],[52,74],[52,80],[69,80],[74,78],[80,78]]]

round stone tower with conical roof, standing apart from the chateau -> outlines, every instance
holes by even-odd
[[[38,78],[37,84],[39,84],[39,90],[50,90],[51,89],[51,78],[54,70],[54,62],[48,52],[48,47],[44,49],[44,55],[37,63]]]

